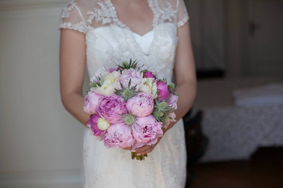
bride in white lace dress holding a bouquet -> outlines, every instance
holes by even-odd
[[[179,94],[175,123],[157,144],[137,148],[148,154],[132,160],[127,149],[106,149],[86,128],[83,141],[84,188],[184,188],[186,149],[182,116],[196,94],[189,16],[183,0],[73,0],[61,14],[60,91],[65,108],[86,125],[82,86],[105,65],[130,58],[157,71],[170,83],[173,72]]]

